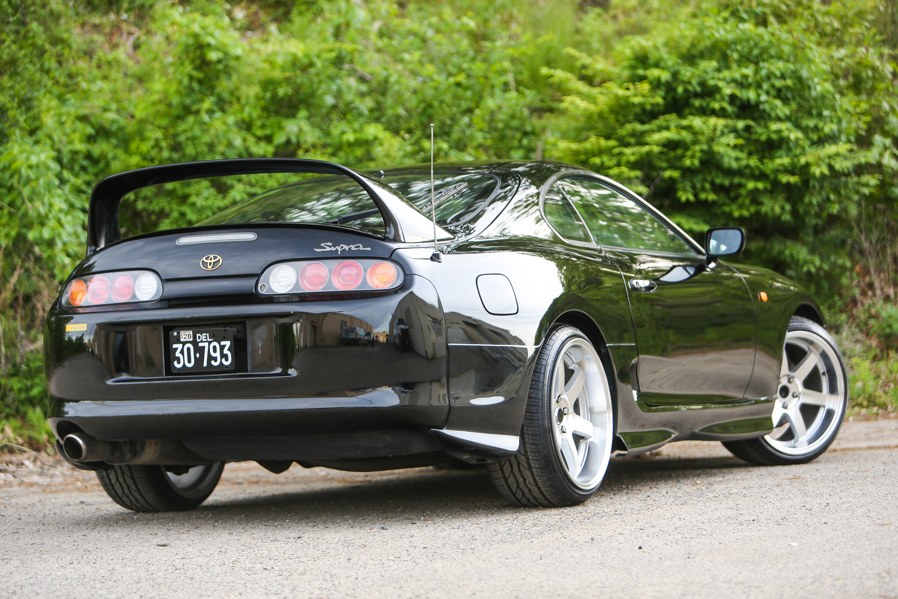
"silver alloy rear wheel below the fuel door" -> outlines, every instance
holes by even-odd
[[[612,398],[602,361],[592,345],[571,339],[559,352],[551,380],[552,426],[568,477],[592,489],[612,451]]]

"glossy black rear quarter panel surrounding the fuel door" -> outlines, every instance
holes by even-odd
[[[543,337],[562,314],[592,319],[602,342],[634,342],[621,273],[601,251],[540,239],[478,240],[429,260],[432,250],[403,250],[411,272],[433,282],[440,296],[449,344],[450,414],[447,428],[520,433],[530,374]],[[400,252],[397,252],[399,254]],[[477,277],[504,274],[518,311],[490,314]],[[629,379],[629,370],[627,372]],[[501,398],[478,406],[474,399]]]

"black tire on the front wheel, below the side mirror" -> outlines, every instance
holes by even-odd
[[[832,336],[826,332],[823,326],[805,317],[792,317],[789,322],[788,333],[814,335],[822,344],[829,347],[827,352],[828,366],[825,369],[828,372],[828,376],[825,377],[825,380],[827,385],[830,385],[832,380],[840,381],[837,392],[841,394],[841,405],[830,410],[832,414],[825,415],[826,422],[824,424],[827,424],[825,430],[819,438],[814,440],[813,446],[809,446],[809,450],[804,453],[781,451],[777,447],[776,441],[770,438],[770,435],[764,435],[756,439],[745,439],[744,441],[723,442],[724,447],[735,457],[750,461],[753,464],[786,466],[789,464],[806,464],[809,461],[816,460],[823,451],[829,448],[836,435],[839,434],[841,421],[845,417],[845,409],[848,407],[848,370],[845,368],[845,360],[842,357],[839,346],[832,339]],[[781,397],[777,398],[778,402]],[[774,425],[777,424],[774,423]]]

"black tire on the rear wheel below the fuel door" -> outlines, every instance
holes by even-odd
[[[577,505],[593,496],[602,483],[608,466],[613,435],[611,391],[608,388],[607,369],[601,358],[592,350],[602,372],[604,392],[607,394],[609,440],[603,442],[604,462],[601,471],[595,472],[597,480],[588,488],[575,484],[568,475],[561,454],[558,451],[554,427],[556,417],[552,400],[552,373],[561,358],[562,350],[572,339],[578,339],[592,348],[589,340],[573,326],[559,326],[547,335],[540,355],[536,359],[524,425],[521,430],[521,445],[517,453],[496,463],[489,464],[489,475],[499,494],[512,505],[523,507],[559,507]],[[581,408],[582,409],[582,408]],[[581,442],[582,443],[582,442]]]

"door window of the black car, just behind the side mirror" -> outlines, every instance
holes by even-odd
[[[574,204],[601,246],[695,254],[682,237],[637,202],[594,179],[566,177],[555,183],[552,192],[556,190]],[[547,217],[550,194],[546,195]]]

